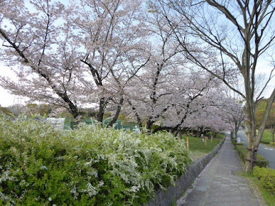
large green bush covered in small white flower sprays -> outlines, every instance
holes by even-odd
[[[0,205],[140,205],[190,163],[184,140],[0,114]]]

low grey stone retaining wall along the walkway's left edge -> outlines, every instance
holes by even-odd
[[[197,176],[201,173],[201,171],[206,167],[206,165],[210,162],[210,160],[217,154],[223,142],[225,141],[226,136],[223,138],[212,152],[208,153],[208,155],[201,157],[201,159],[191,163],[186,168],[186,172],[179,176],[177,181],[175,181],[175,186],[171,185],[167,188],[166,191],[161,190],[157,192],[155,197],[145,203],[145,206],[170,206],[172,203],[175,203],[177,199],[179,199],[184,191],[188,189],[192,185],[192,182],[195,181]]]

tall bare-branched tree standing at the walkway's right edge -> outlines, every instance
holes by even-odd
[[[173,27],[175,38],[185,49],[186,56],[194,64],[210,72],[222,80],[230,89],[239,93],[245,99],[248,114],[248,150],[247,159],[251,159],[251,149],[256,150],[263,137],[263,131],[275,98],[273,90],[259,134],[256,135],[255,106],[263,97],[263,91],[274,77],[273,71],[256,92],[256,71],[259,58],[265,56],[273,59],[274,53],[274,1],[159,1],[158,11],[166,17],[167,23]],[[190,37],[190,38],[188,38]],[[194,49],[192,41],[196,38],[201,46],[208,47],[208,51]],[[191,47],[192,46],[192,47]],[[211,67],[198,59],[198,56],[209,56],[210,49],[215,56],[219,54],[221,64]],[[217,51],[217,52],[216,52]],[[212,54],[212,55],[213,55]],[[225,62],[234,63],[228,67]],[[239,74],[243,78],[245,93],[234,88],[228,79],[230,73]],[[256,159],[254,152],[253,159]],[[245,171],[252,170],[254,163],[245,162]]]

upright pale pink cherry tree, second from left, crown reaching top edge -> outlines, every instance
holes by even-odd
[[[116,104],[111,124],[115,122],[124,102],[124,87],[150,58],[142,2],[83,0],[67,8],[68,30],[74,30],[75,44],[82,49],[80,60],[98,90],[89,101],[98,103],[99,122],[110,102]]]

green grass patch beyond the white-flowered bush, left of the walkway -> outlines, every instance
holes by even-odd
[[[211,142],[211,139],[208,138],[205,144],[205,142],[202,141],[202,139],[199,137],[190,137],[188,135],[182,135],[182,138],[185,141],[186,141],[186,137],[188,137],[188,141],[189,141],[190,156],[194,161],[211,152],[214,149],[214,147],[221,142],[221,139],[214,139],[214,138],[212,139],[212,142]]]

